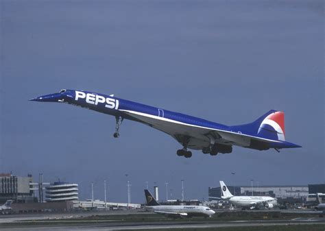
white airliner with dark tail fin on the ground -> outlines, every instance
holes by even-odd
[[[147,199],[147,210],[156,212],[166,217],[211,217],[215,211],[206,206],[162,206],[156,199],[145,189],[145,199]]]

